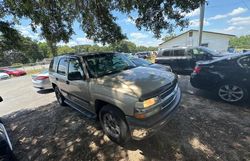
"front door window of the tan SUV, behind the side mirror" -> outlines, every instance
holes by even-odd
[[[70,58],[68,79],[69,80],[83,80],[83,78],[84,78],[84,72],[83,72],[81,63],[76,58]]]

